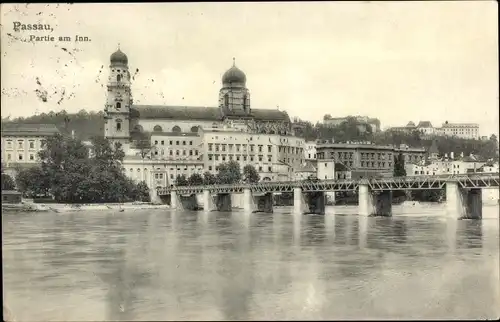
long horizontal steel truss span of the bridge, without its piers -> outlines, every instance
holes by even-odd
[[[303,192],[319,191],[356,191],[360,184],[368,185],[370,190],[428,190],[444,189],[446,182],[456,182],[461,188],[490,188],[498,187],[500,176],[498,173],[474,173],[438,176],[410,176],[380,179],[360,180],[302,180],[302,181],[263,181],[253,184],[218,184],[201,186],[179,186],[158,188],[158,195],[169,195],[173,191],[186,195],[210,191],[210,193],[241,193],[250,189],[253,193],[293,192],[294,188],[301,188]]]

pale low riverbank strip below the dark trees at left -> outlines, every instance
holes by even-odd
[[[169,205],[158,205],[148,202],[105,203],[105,204],[41,204],[22,202],[20,204],[3,204],[2,212],[56,212],[68,213],[95,210],[130,211],[142,209],[169,209]]]

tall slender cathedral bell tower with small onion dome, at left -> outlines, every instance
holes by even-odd
[[[119,48],[110,57],[110,73],[104,108],[104,137],[113,146],[121,143],[124,151],[130,142],[130,73],[128,58]]]

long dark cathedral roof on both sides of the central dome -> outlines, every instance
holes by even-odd
[[[141,119],[176,119],[222,121],[223,115],[218,107],[197,106],[165,106],[165,105],[133,105],[132,118]],[[229,116],[240,116],[232,113]],[[241,115],[243,116],[243,115]],[[287,121],[290,117],[286,112],[274,109],[252,109],[250,117],[257,121]]]

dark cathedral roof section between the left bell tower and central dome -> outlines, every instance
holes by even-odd
[[[131,117],[141,119],[222,120],[217,107],[133,105],[130,113]]]

